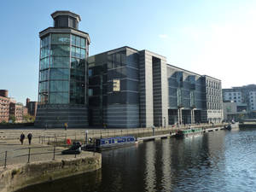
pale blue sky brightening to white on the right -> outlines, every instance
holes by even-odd
[[[3,0],[0,90],[17,102],[38,100],[38,32],[55,10],[81,17],[90,55],[130,46],[222,80],[223,88],[256,84],[255,0]]]

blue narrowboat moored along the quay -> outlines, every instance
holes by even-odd
[[[119,148],[134,143],[136,138],[133,136],[97,138],[94,143],[87,145],[85,150]]]

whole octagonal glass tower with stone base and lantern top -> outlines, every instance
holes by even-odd
[[[87,117],[87,57],[90,37],[80,16],[55,11],[54,26],[39,32],[38,127],[84,127]]]

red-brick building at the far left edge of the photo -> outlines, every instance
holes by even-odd
[[[9,122],[9,102],[8,90],[0,90],[0,123]]]

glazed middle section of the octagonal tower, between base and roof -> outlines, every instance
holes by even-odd
[[[41,39],[41,104],[85,103],[85,49],[85,39],[71,34],[52,33]]]

